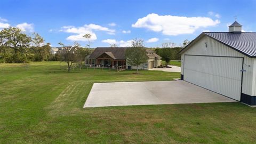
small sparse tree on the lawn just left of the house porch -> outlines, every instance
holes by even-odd
[[[59,44],[64,46],[64,44],[61,42],[59,42]],[[73,63],[78,61],[78,53],[75,47],[63,47],[63,50],[60,52],[60,60],[67,63],[68,71],[70,71]]]

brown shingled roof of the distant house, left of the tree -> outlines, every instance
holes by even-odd
[[[113,59],[125,60],[125,49],[126,47],[97,47],[90,55],[90,59],[97,59],[100,55],[106,53]]]

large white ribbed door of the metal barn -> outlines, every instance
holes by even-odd
[[[184,80],[240,100],[243,58],[185,55]]]

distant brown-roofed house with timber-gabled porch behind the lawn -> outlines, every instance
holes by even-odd
[[[126,66],[126,68],[135,69],[133,66],[126,65],[125,49],[131,47],[97,47],[91,55],[85,59],[85,65],[97,67]],[[150,69],[161,65],[161,57],[154,51],[147,50],[148,61],[139,66],[139,69]]]

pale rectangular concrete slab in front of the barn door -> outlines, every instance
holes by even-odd
[[[235,102],[185,81],[94,83],[86,107]]]

